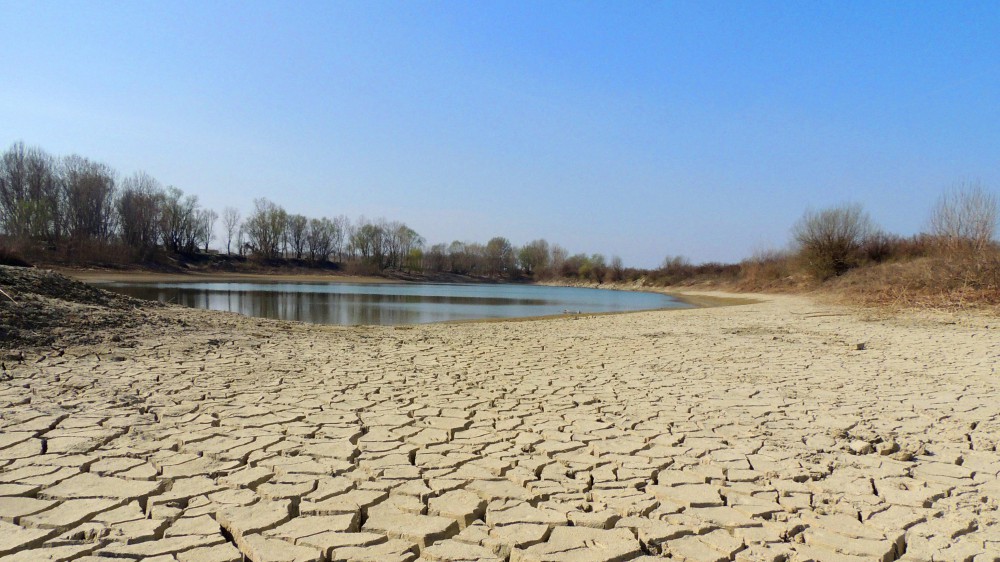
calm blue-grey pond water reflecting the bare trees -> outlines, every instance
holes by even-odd
[[[422,324],[688,306],[653,293],[535,285],[108,283],[103,287],[193,308],[314,324]]]

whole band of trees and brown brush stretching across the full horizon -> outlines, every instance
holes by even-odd
[[[157,264],[179,260],[338,268],[348,273],[409,272],[505,279],[717,285],[787,290],[833,282],[873,302],[1000,304],[1000,203],[978,183],[946,191],[925,232],[886,233],[857,204],[808,211],[787,249],[738,264],[691,264],[668,256],[653,270],[621,258],[570,254],[544,239],[515,247],[502,236],[485,244],[428,245],[406,224],[290,214],[257,199],[248,216],[221,215],[195,195],[138,172],[121,176],[82,156],[54,157],[13,144],[0,158],[0,263],[20,259],[76,264]],[[217,226],[221,233],[216,237]],[[223,252],[209,250],[218,240]],[[223,244],[224,243],[224,244]],[[923,299],[923,300],[921,300]]]

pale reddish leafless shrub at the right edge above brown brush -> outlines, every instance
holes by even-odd
[[[1000,219],[997,195],[979,182],[949,189],[931,211],[930,231],[949,251],[979,254],[992,242]]]

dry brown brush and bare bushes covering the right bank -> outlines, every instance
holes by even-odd
[[[724,270],[716,278],[734,290],[822,289],[865,305],[997,307],[998,217],[996,196],[979,184],[948,191],[931,212],[930,232],[912,237],[881,231],[858,205],[807,212],[792,230],[792,250],[760,252],[735,277]],[[684,274],[671,284],[696,282],[694,268],[671,264]]]

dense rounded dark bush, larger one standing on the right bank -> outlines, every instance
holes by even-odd
[[[792,227],[792,237],[809,272],[818,279],[856,267],[865,239],[878,229],[859,204],[807,211]]]

